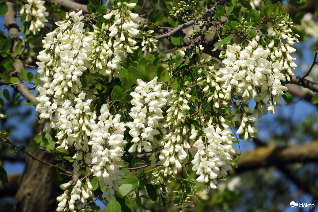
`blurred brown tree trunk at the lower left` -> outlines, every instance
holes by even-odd
[[[33,138],[43,126],[36,123],[33,129]],[[31,148],[27,151],[33,156],[45,162],[52,163],[50,154],[34,146],[33,139],[30,141]],[[14,212],[52,212],[56,208],[56,197],[60,189],[54,184],[52,171],[48,165],[26,158],[24,174],[20,187],[16,193]]]

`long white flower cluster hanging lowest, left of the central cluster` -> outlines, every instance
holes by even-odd
[[[110,201],[115,200],[114,191],[123,182],[120,176],[125,175],[120,168],[123,163],[121,157],[125,152],[123,147],[127,143],[123,135],[126,125],[120,122],[121,115],[113,117],[109,113],[106,104],[101,106],[100,114],[100,121],[89,125],[93,130],[88,142],[92,151],[86,154],[85,162],[93,165],[93,174],[100,181],[100,186],[105,188],[102,196]]]

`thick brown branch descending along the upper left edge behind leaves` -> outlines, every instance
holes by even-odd
[[[8,12],[4,15],[4,26],[8,29],[9,39],[11,40],[12,52],[15,53],[15,48],[19,42],[21,42],[21,38],[19,37],[19,27],[15,22],[15,13],[13,10],[12,2],[6,2],[8,5]],[[18,54],[20,55],[20,54]],[[21,78],[20,71],[23,68],[23,61],[20,56],[16,55],[16,62],[14,62],[14,71],[10,72],[10,76],[17,76]],[[34,94],[29,91],[29,89],[24,84],[12,85],[13,89],[19,92],[27,102],[34,102]]]

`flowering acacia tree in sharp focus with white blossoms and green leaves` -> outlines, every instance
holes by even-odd
[[[0,4],[8,29],[1,83],[35,105],[43,130],[34,142],[55,161],[10,142],[5,130],[1,140],[53,167],[64,190],[56,211],[97,210],[98,198],[107,211],[133,211],[131,201],[142,209],[147,196],[165,207],[171,183],[173,202],[188,211],[200,201],[197,189],[217,188],[238,168],[234,144],[256,138],[255,123],[281,98],[292,101],[287,84],[318,91],[294,76],[292,46],[304,35],[279,1],[162,4],[150,12],[135,0]],[[34,46],[38,39],[43,45]],[[25,70],[30,64],[35,76]]]

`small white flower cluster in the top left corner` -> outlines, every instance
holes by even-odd
[[[25,21],[31,21],[29,30],[33,34],[37,34],[44,27],[44,23],[47,23],[48,20],[45,18],[49,14],[46,12],[44,6],[45,1],[41,0],[27,0],[27,4],[22,6],[20,13],[23,15],[26,13]]]

